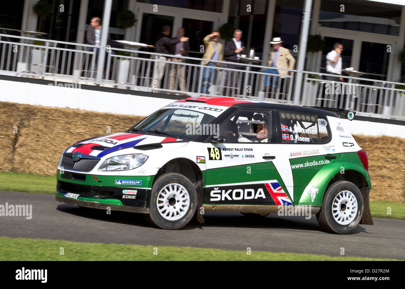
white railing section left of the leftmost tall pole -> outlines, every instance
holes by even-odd
[[[44,44],[34,44],[36,41]],[[86,51],[86,47],[92,51]],[[73,82],[94,80],[96,49],[93,45],[0,34],[0,73],[33,78],[52,76]]]

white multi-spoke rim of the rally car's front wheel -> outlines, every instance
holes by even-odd
[[[164,219],[176,221],[187,213],[190,206],[190,196],[182,185],[170,183],[159,191],[156,206]]]

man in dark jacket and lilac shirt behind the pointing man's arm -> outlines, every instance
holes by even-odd
[[[184,28],[180,27],[177,29],[177,36],[172,39],[181,39],[184,36]],[[171,45],[170,54],[173,54],[171,62],[174,63],[183,63],[183,58],[178,56],[186,56],[190,53],[190,43],[188,41],[179,42],[176,44]],[[170,69],[170,90],[177,90],[176,85],[176,74],[177,70],[179,70],[179,87],[181,91],[185,91],[185,66],[180,64],[171,64]],[[185,95],[183,93],[182,95]]]

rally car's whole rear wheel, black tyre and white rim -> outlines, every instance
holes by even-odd
[[[347,234],[360,223],[363,210],[364,202],[358,187],[348,181],[337,181],[326,191],[316,219],[327,231]]]

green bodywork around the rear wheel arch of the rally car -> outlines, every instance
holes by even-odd
[[[338,174],[341,171],[343,171],[342,170],[343,168],[345,171],[355,170],[357,172],[360,172],[364,176],[364,178],[366,178],[366,181],[367,181],[369,187],[371,188],[369,174],[368,174],[367,170],[364,168],[363,164],[361,163],[360,157],[358,157],[356,152],[340,153],[340,154],[333,154],[333,155],[336,155],[337,158],[334,160],[330,159],[330,164],[326,164],[322,167],[318,166],[320,168],[319,170],[311,169],[311,170],[306,171],[305,175],[307,176],[307,180],[305,181],[302,178],[301,178],[301,180],[297,180],[297,187],[295,187],[296,178],[295,178],[294,169],[293,169],[294,197],[295,197],[294,200],[299,200],[298,203],[294,202],[295,205],[322,206],[322,201],[323,201],[324,194],[326,191],[326,187],[328,186],[328,183],[333,178],[333,176],[335,176],[335,174]],[[324,155],[320,156],[320,157],[324,158]],[[320,158],[320,157],[318,157],[318,158]],[[316,158],[310,157],[310,159],[316,159]],[[303,177],[303,175],[301,175],[301,177]],[[307,183],[307,185],[305,185],[305,187],[303,187],[303,185],[305,183]],[[298,185],[300,185],[300,186],[298,186]],[[311,202],[311,196],[307,192],[312,185],[314,185],[319,190],[318,195],[316,196],[314,202]]]

